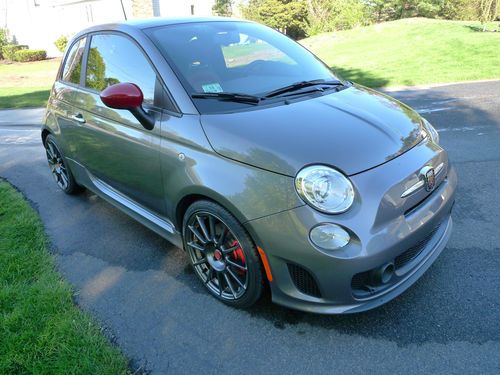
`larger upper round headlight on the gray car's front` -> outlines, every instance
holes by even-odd
[[[327,214],[345,212],[354,201],[351,181],[324,165],[302,169],[295,177],[295,187],[307,204]]]

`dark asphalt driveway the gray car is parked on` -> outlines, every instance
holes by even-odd
[[[36,129],[0,124],[0,176],[38,209],[61,272],[151,373],[500,373],[500,82],[393,92],[440,131],[459,173],[455,227],[410,290],[374,311],[249,311],[205,293],[183,252],[51,180]]]

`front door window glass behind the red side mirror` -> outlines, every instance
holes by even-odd
[[[135,83],[144,94],[144,102],[153,104],[156,73],[141,50],[123,36],[92,36],[85,86],[102,91],[120,82]]]

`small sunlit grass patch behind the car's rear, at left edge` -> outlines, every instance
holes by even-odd
[[[44,107],[60,59],[0,63],[0,108]]]

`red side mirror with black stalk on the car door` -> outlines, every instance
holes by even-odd
[[[116,83],[105,88],[100,97],[107,107],[126,109],[135,116],[144,128],[153,130],[155,120],[142,108],[144,95],[139,86],[133,83]]]

